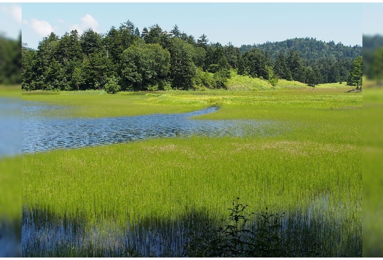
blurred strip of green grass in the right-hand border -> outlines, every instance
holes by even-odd
[[[363,80],[363,257],[382,257],[383,88]]]

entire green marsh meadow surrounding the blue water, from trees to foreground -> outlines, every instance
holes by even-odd
[[[71,232],[77,227],[92,239],[80,243],[63,236],[48,247],[39,241],[49,241],[51,233],[40,229],[36,241],[23,245],[23,256],[118,256],[135,239],[135,250],[151,255],[151,244],[127,235],[138,232],[134,227],[142,228],[137,235],[156,230],[157,240],[174,242],[188,217],[217,222],[237,197],[254,212],[286,212],[285,233],[308,231],[301,240],[320,243],[321,256],[361,256],[362,94],[350,89],[336,83],[315,91],[291,86],[23,93],[24,101],[65,106],[50,112],[59,117],[180,113],[219,105],[195,120],[271,120],[281,126],[272,137],[160,138],[24,155],[23,225],[51,227],[56,236],[62,231],[55,225]],[[162,256],[169,255],[177,256]]]

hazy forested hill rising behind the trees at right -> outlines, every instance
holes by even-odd
[[[240,51],[244,53],[253,48],[269,52],[273,59],[276,59],[279,52],[282,52],[287,56],[290,50],[299,51],[303,61],[318,60],[320,58],[328,57],[335,57],[338,60],[344,58],[353,60],[357,56],[362,55],[362,47],[359,45],[351,47],[345,46],[342,43],[335,44],[334,41],[322,42],[315,38],[308,37],[287,39],[281,42],[266,42],[257,45],[242,45]]]

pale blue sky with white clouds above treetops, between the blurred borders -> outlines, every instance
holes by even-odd
[[[177,24],[196,39],[258,44],[295,37],[362,45],[362,3],[22,3],[22,38],[29,47],[50,31],[92,27],[105,33],[128,19],[143,27]]]

